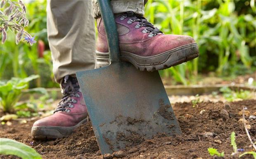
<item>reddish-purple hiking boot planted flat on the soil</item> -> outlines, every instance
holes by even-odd
[[[65,76],[62,81],[64,97],[52,115],[37,120],[31,129],[33,139],[63,138],[88,121],[88,112],[76,77]]]

